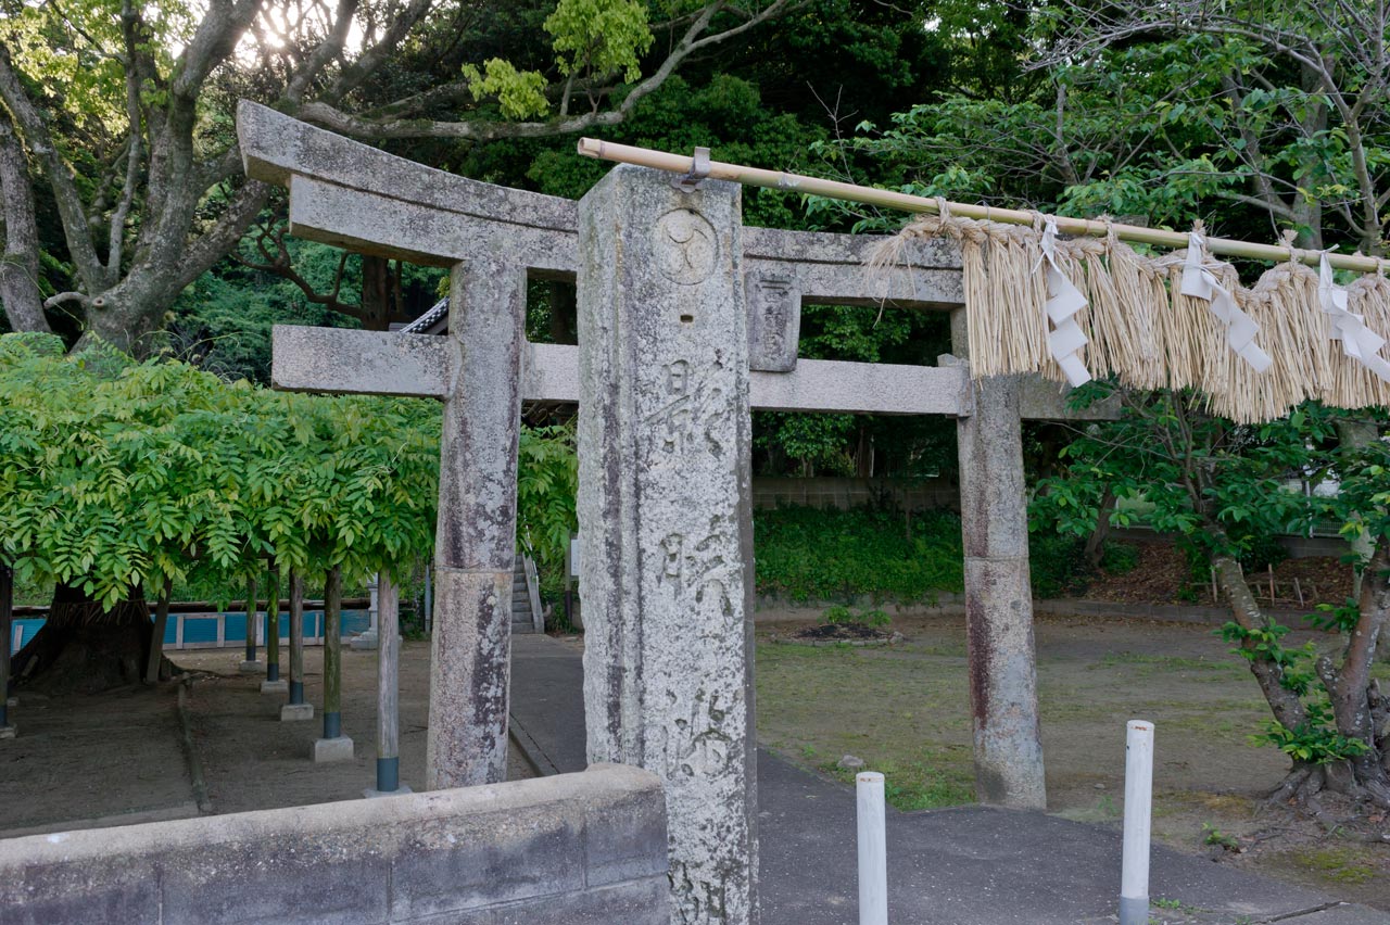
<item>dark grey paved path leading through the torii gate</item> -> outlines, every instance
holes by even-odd
[[[542,774],[582,771],[582,664],[549,636],[512,639],[512,728]],[[771,753],[758,757],[763,925],[849,925],[855,890],[855,796]],[[888,810],[894,925],[1113,922],[1116,829],[1040,812],[960,807]],[[1386,925],[1390,915],[1297,886],[1155,847],[1151,896],[1180,908],[1155,922]]]

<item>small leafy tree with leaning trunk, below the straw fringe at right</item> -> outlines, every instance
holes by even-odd
[[[1333,789],[1390,806],[1390,700],[1371,678],[1390,615],[1390,444],[1341,440],[1350,417],[1308,404],[1282,421],[1237,426],[1208,414],[1198,394],[1126,394],[1120,421],[1090,425],[1066,447],[1065,468],[1040,482],[1033,514],[1086,536],[1098,517],[1126,522],[1125,511],[1105,508],[1106,496],[1152,506],[1150,525],[1209,561],[1230,603],[1222,633],[1273,714],[1262,738],[1293,760],[1275,796]],[[1334,479],[1339,490],[1309,496],[1304,479]],[[1270,536],[1326,519],[1368,540],[1357,562],[1361,596],[1309,618],[1341,632],[1339,651],[1290,647],[1289,628],[1261,610],[1241,560]]]

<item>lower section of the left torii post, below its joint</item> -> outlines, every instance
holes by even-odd
[[[507,769],[512,569],[435,567],[425,786],[495,783]]]

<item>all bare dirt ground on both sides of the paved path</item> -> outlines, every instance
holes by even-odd
[[[891,647],[777,642],[819,611],[759,612],[760,740],[803,765],[835,769],[855,754],[888,775],[890,799],[926,808],[972,799],[970,712],[962,618],[895,614],[906,640]],[[787,622],[790,621],[790,622]],[[1247,669],[1205,626],[1041,618],[1038,689],[1052,812],[1118,825],[1125,722],[1156,726],[1154,833],[1280,879],[1390,910],[1390,822],[1326,824],[1262,807],[1287,768],[1248,735],[1268,718]],[[1298,642],[1298,640],[1295,640]],[[427,643],[402,653],[402,779],[423,786]],[[234,649],[177,653],[196,674],[189,707],[214,812],[354,799],[374,782],[375,653],[343,653],[343,731],[356,758],[309,761],[321,731],[321,650],[307,653],[311,722],[279,722],[282,697],[236,672]],[[1390,669],[1386,669],[1390,678]],[[68,701],[24,700],[19,738],[0,743],[0,836],[35,826],[120,824],[193,815],[175,685]],[[513,753],[510,774],[531,771]],[[122,812],[138,815],[121,817]],[[111,818],[115,817],[115,818]],[[1377,843],[1371,843],[1371,840]]]

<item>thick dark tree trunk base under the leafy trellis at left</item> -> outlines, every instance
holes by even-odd
[[[142,596],[104,612],[79,588],[58,585],[47,622],[11,658],[11,676],[15,688],[46,694],[92,694],[140,683],[153,636]],[[163,660],[160,678],[171,672]]]

